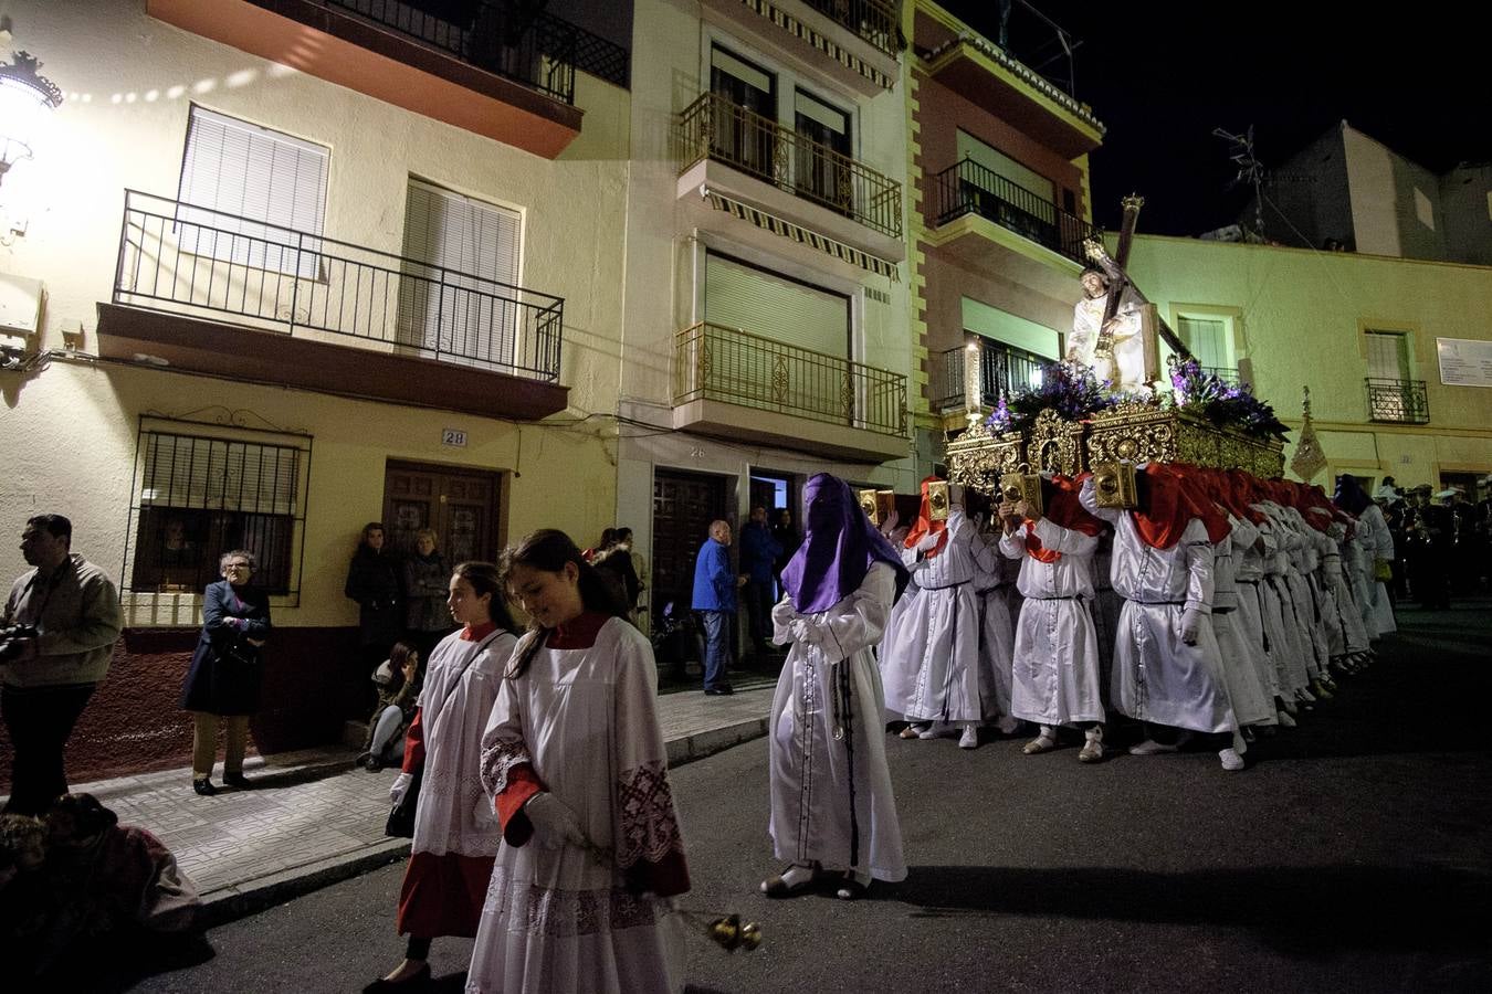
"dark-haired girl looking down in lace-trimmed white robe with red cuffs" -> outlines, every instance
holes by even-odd
[[[531,618],[482,735],[503,827],[467,991],[677,991],[689,888],[648,639],[562,532],[503,557]]]

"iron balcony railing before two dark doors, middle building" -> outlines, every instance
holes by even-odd
[[[901,237],[901,183],[771,118],[703,94],[679,115],[679,171],[700,159],[725,162],[803,200]]]

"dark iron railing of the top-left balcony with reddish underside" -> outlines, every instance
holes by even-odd
[[[254,1],[273,7],[270,0]],[[574,103],[577,69],[619,86],[628,85],[628,57],[624,48],[552,13],[524,12],[512,1],[483,0],[467,4],[471,18],[464,22],[436,16],[400,0],[319,1],[564,103]]]

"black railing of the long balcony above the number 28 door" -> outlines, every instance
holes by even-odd
[[[560,379],[560,297],[133,189],[113,303]]]

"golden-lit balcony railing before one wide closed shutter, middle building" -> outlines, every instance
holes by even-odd
[[[700,399],[900,437],[907,377],[700,322],[676,337],[673,402]]]

